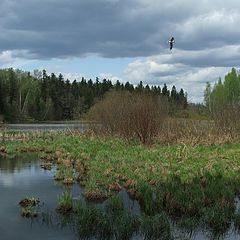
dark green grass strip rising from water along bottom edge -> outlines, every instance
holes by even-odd
[[[201,216],[175,218],[166,211],[152,215],[134,214],[124,208],[123,201],[114,195],[103,204],[78,201],[71,219],[61,218],[61,225],[71,226],[78,239],[192,239],[194,232],[204,229],[211,239],[219,239],[236,219],[232,209],[220,206],[205,207]],[[64,216],[64,215],[63,215]],[[174,228],[177,227],[177,232]],[[175,228],[176,230],[176,228]],[[177,233],[177,234],[176,234]],[[181,238],[181,236],[183,238]],[[180,238],[179,238],[180,237]]]

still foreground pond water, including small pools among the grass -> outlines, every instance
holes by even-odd
[[[40,167],[36,155],[24,154],[13,159],[0,158],[0,239],[1,240],[75,240],[78,239],[70,227],[61,227],[55,212],[58,198],[65,188],[53,180],[55,170],[46,171]],[[74,199],[82,200],[82,189],[75,184],[71,188]],[[136,201],[128,198],[126,192],[119,193],[125,208],[140,212]],[[46,224],[42,217],[26,219],[21,216],[19,201],[24,197],[39,198],[41,211],[54,217],[53,225]],[[208,233],[198,230],[184,233],[173,229],[174,239],[210,239]],[[132,239],[142,239],[134,236]],[[224,240],[240,239],[233,231],[221,237]]]

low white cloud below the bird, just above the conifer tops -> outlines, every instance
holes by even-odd
[[[214,83],[219,77],[223,78],[229,70],[228,67],[199,68],[180,63],[164,64],[161,56],[155,56],[130,63],[124,74],[125,78],[134,84],[139,81],[149,85],[166,83],[169,89],[175,85],[178,90],[183,88],[188,93],[189,101],[202,102],[206,82]]]

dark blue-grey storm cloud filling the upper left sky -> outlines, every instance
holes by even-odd
[[[157,17],[140,19],[142,7],[133,0],[3,1],[0,49],[28,50],[34,58],[152,54]]]

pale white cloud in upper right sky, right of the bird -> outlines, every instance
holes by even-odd
[[[236,10],[212,10],[186,19],[176,26],[176,32],[185,49],[239,44],[239,21],[240,13]]]

